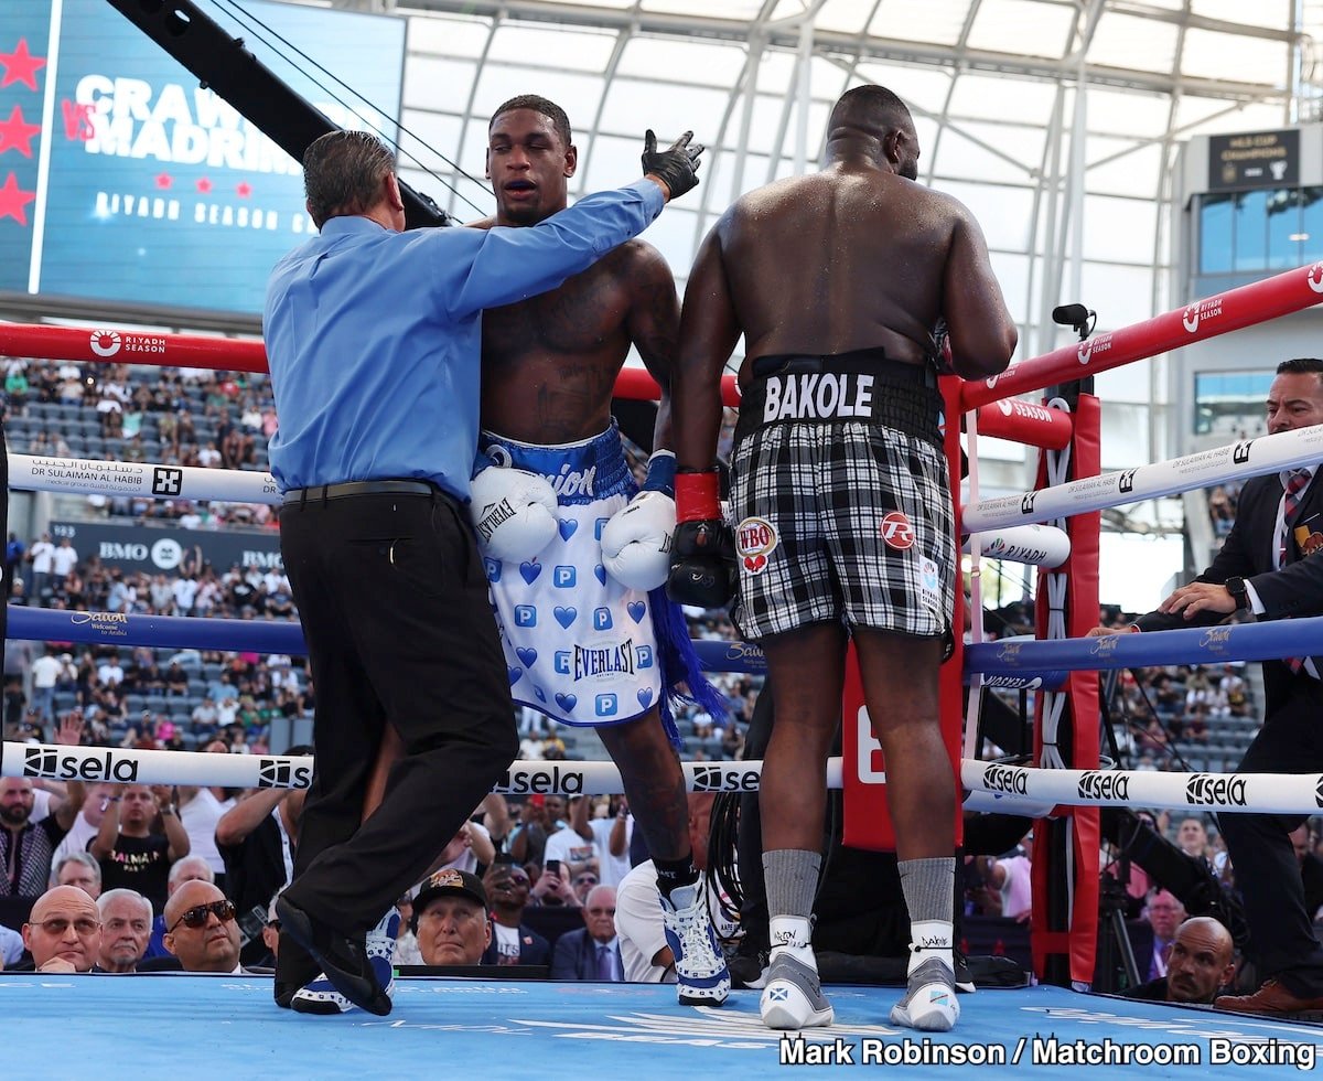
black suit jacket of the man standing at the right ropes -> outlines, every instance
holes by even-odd
[[[1232,577],[1246,578],[1263,603],[1259,619],[1323,615],[1323,548],[1312,556],[1303,556],[1297,542],[1299,531],[1323,536],[1323,476],[1319,474],[1323,474],[1323,467],[1315,470],[1314,480],[1304,490],[1281,570],[1273,569],[1277,560],[1277,511],[1282,501],[1282,482],[1274,472],[1245,482],[1232,532],[1209,568],[1195,581],[1221,585]],[[1209,611],[1199,613],[1193,619],[1151,611],[1135,622],[1140,630],[1167,631],[1212,626],[1225,618]],[[1323,673],[1323,656],[1315,656],[1314,664]],[[1275,660],[1263,663],[1263,677],[1267,708],[1271,711],[1287,681],[1294,677],[1285,664]]]

